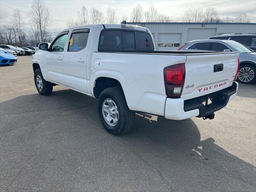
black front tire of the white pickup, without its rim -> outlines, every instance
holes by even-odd
[[[38,85],[37,78],[41,78],[41,88]],[[34,72],[34,82],[38,93],[40,93],[41,95],[50,95],[52,93],[52,83],[44,80],[40,69],[36,69]]]

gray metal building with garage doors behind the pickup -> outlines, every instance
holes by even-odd
[[[148,28],[157,50],[177,50],[187,41],[208,39],[208,37],[227,33],[256,34],[256,23],[127,22],[127,24]]]

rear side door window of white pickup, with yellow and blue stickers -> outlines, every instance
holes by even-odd
[[[76,52],[86,48],[88,36],[89,32],[72,33],[68,44],[68,51]]]

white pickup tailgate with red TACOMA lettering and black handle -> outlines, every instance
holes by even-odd
[[[181,98],[188,100],[232,86],[239,53],[187,55]]]

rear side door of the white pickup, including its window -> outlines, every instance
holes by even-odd
[[[63,57],[63,74],[65,86],[88,93],[86,66],[89,52],[92,27],[72,30],[68,40],[67,50]]]

